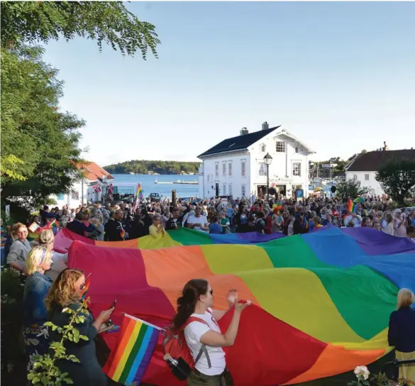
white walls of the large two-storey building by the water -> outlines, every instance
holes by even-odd
[[[199,168],[199,197],[232,195],[234,198],[259,197],[266,194],[269,153],[270,187],[286,197],[294,197],[296,189],[309,194],[309,155],[314,153],[285,128],[275,131],[249,145],[245,150],[201,155]]]

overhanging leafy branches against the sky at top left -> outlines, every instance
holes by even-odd
[[[160,40],[155,26],[140,21],[121,1],[2,1],[1,45],[48,43],[75,36],[96,40],[120,50],[123,55],[148,49],[157,57]]]

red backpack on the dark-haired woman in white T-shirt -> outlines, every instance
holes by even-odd
[[[211,311],[209,309],[207,310],[209,314],[211,314]],[[192,354],[189,351],[189,347],[186,343],[186,338],[184,338],[184,329],[186,326],[192,321],[199,321],[200,323],[206,324],[206,326],[209,326],[209,324],[204,321],[203,319],[197,318],[196,316],[190,316],[189,319],[183,324],[182,327],[178,331],[175,331],[172,329],[172,327],[169,327],[165,330],[163,333],[163,348],[165,351],[165,354],[170,354],[172,358],[179,359],[182,357],[182,359],[189,365],[190,368],[194,368],[194,365],[196,365],[197,361],[201,358],[201,355],[205,354],[206,359],[208,361],[208,366],[211,368],[211,360],[209,358],[209,354],[206,350],[206,346],[201,345],[200,351],[197,354],[196,359],[193,359]]]

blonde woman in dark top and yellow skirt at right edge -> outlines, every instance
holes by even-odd
[[[415,295],[410,289],[398,292],[397,311],[389,317],[389,346],[394,346],[397,360],[415,360]],[[415,383],[415,363],[399,366],[399,379]]]

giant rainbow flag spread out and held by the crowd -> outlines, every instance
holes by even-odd
[[[184,284],[209,280],[214,308],[236,288],[243,311],[226,363],[238,386],[293,385],[353,370],[382,358],[397,292],[415,290],[415,243],[371,228],[331,226],[262,244],[204,244],[160,249],[105,248],[74,241],[68,265],[92,272],[94,314],[117,308],[164,327]],[[226,331],[231,311],[220,321]],[[118,333],[104,336],[110,348]],[[161,339],[143,376],[182,385],[162,360]],[[320,382],[320,381],[319,381]]]

